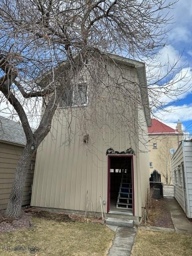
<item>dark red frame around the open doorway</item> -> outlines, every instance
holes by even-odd
[[[110,159],[112,157],[131,157],[132,173],[132,198],[133,198],[133,215],[135,215],[135,193],[134,193],[134,155],[108,155],[107,156],[107,212],[110,211]]]

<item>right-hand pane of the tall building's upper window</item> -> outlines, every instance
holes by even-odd
[[[74,85],[73,105],[87,104],[87,83]]]

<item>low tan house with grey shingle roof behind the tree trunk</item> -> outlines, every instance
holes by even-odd
[[[6,209],[18,160],[26,144],[25,134],[17,122],[0,116],[0,210]],[[22,205],[30,204],[35,156],[27,172]]]

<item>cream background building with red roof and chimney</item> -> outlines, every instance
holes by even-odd
[[[149,134],[149,168],[150,172],[158,170],[162,182],[172,184],[171,157],[182,140],[182,124],[177,123],[176,129],[152,118]]]

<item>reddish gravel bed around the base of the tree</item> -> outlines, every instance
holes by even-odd
[[[13,232],[18,229],[25,229],[31,227],[30,213],[22,212],[22,216],[19,219],[5,218],[5,211],[0,211],[0,232]]]

